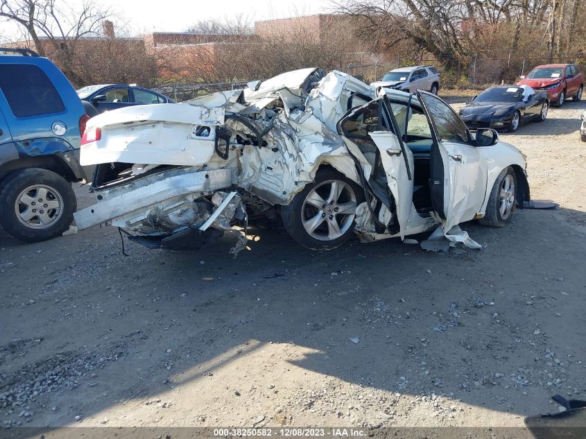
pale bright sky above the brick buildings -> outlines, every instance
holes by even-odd
[[[64,0],[69,4],[80,0]],[[224,19],[243,15],[252,21],[329,12],[331,0],[98,0],[119,12],[131,26],[130,33],[149,31],[181,32],[205,19]],[[15,28],[1,24],[6,36]]]

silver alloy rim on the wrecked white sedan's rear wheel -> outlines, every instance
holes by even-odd
[[[305,231],[314,239],[334,241],[352,227],[356,194],[350,184],[328,180],[314,187],[301,209]]]

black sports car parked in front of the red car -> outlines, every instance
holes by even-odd
[[[474,96],[458,114],[470,130],[494,128],[512,132],[523,122],[544,121],[547,110],[547,92],[535,92],[527,85],[500,85]]]

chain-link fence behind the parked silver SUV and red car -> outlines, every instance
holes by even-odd
[[[345,71],[371,83],[380,80],[388,71],[398,67],[431,64],[440,71],[442,89],[485,89],[495,84],[514,84],[519,76],[527,74],[540,64],[573,63],[586,72],[586,58],[560,56],[550,60],[547,55],[532,57],[471,58],[469,60],[436,60],[397,58],[394,62],[348,64]]]

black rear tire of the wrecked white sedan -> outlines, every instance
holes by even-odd
[[[312,195],[317,194],[322,200],[326,201],[326,198],[328,198],[327,193],[331,190],[331,182],[334,181],[343,182],[344,187],[343,191],[341,191],[341,196],[337,198],[334,205],[325,204],[318,209],[314,205],[305,203],[310,193]],[[329,188],[327,186],[328,184],[330,185]],[[281,217],[283,218],[285,230],[295,241],[311,250],[331,250],[341,246],[354,234],[354,212],[352,214],[336,214],[334,213],[334,209],[337,208],[337,203],[340,203],[339,205],[352,203],[352,197],[355,200],[356,207],[360,203],[363,203],[364,192],[358,184],[334,169],[321,169],[316,174],[316,179],[313,182],[307,184],[300,193],[295,195],[289,205],[281,208]],[[323,206],[327,207],[324,208]],[[331,212],[329,212],[330,210]],[[336,212],[338,211],[336,210]],[[316,222],[319,225],[316,227],[314,234],[320,234],[322,239],[312,236],[305,229],[304,218],[307,217],[316,218]],[[320,217],[323,218],[321,221]],[[338,230],[342,232],[341,236],[335,239],[325,236],[325,234],[329,236],[331,231],[330,227],[334,227],[334,222],[338,225]]]

